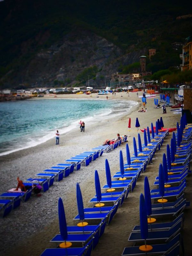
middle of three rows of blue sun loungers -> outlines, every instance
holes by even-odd
[[[94,195],[90,199],[90,203],[95,204],[108,204],[110,206],[99,206],[99,207],[90,207],[90,208],[84,208],[84,220],[85,221],[93,221],[96,225],[93,226],[85,226],[84,228],[80,228],[77,226],[67,226],[68,231],[68,237],[67,242],[79,242],[82,243],[82,247],[78,248],[55,248],[55,249],[46,249],[41,256],[47,256],[47,255],[86,255],[90,256],[91,250],[95,248],[96,244],[99,241],[100,236],[104,233],[104,229],[106,224],[109,224],[111,220],[113,219],[115,213],[117,212],[118,207],[120,207],[124,200],[126,200],[129,192],[133,191],[136,185],[136,181],[140,177],[140,173],[144,172],[146,170],[146,166],[150,161],[152,160],[152,157],[154,156],[156,152],[156,148],[159,148],[159,145],[163,143],[164,136],[167,135],[167,132],[164,132],[162,137],[158,138],[153,144],[149,145],[150,148],[148,149],[147,153],[142,156],[137,156],[137,159],[135,156],[130,158],[130,162],[124,164],[123,163],[123,169],[120,168],[121,172],[116,172],[112,177],[109,174],[110,178],[107,178],[107,184],[105,184],[102,187],[102,190],[105,192],[101,192],[101,189],[98,192],[96,188],[96,195]],[[143,145],[144,149],[144,145]],[[159,148],[160,149],[160,148]],[[126,151],[127,154],[129,154],[128,150],[128,144],[126,145]],[[138,152],[140,152],[138,150]],[[135,161],[138,160],[138,161]],[[108,163],[106,159],[106,163]],[[120,160],[120,165],[122,164]],[[127,170],[128,169],[128,170]],[[123,174],[122,174],[123,172]],[[95,177],[97,177],[98,173],[95,171]],[[106,175],[107,175],[107,165],[106,165]],[[119,178],[122,178],[122,175],[126,180],[119,180]],[[109,182],[109,180],[111,182]],[[95,180],[95,187],[97,187],[98,184]],[[99,182],[99,188],[100,188],[100,182]],[[111,189],[117,189],[118,191],[111,191]],[[115,190],[114,189],[114,190]],[[100,194],[100,198],[98,198],[98,194]],[[77,214],[74,218],[74,220],[81,220],[80,214]],[[84,221],[83,220],[83,221]],[[73,231],[72,231],[73,230]],[[74,236],[72,236],[72,232],[74,232]],[[86,233],[86,235],[85,235]],[[62,235],[57,234],[53,237],[51,242],[56,242],[57,245],[59,243],[64,242]]]

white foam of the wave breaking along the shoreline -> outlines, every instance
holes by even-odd
[[[138,102],[130,100],[129,102],[131,102],[131,104],[127,108],[123,108],[123,109],[119,108],[120,105],[124,106],[125,102],[127,104],[127,101],[121,100],[117,103],[117,109],[107,109],[107,110],[105,109],[104,112],[103,112],[103,110],[99,110],[93,116],[87,116],[85,118],[82,118],[82,121],[84,121],[84,123],[86,125],[86,124],[93,124],[93,123],[96,123],[96,122],[103,121],[103,120],[106,119],[106,116],[108,116],[110,118],[113,118],[114,116],[120,116],[124,112],[129,111],[133,106],[138,104]],[[117,112],[119,112],[119,113],[117,113]],[[58,128],[56,128],[56,130],[59,130],[60,134],[70,132],[73,129],[77,129],[79,127],[78,122],[79,122],[79,120],[74,120],[69,125],[65,124],[67,126],[58,127]],[[44,131],[44,133],[46,133],[46,134],[42,137],[39,137],[39,136],[38,137],[37,136],[36,137],[31,137],[31,138],[28,137],[27,141],[23,141],[23,143],[20,141],[20,145],[18,147],[16,146],[16,148],[14,148],[12,150],[1,152],[0,156],[5,156],[5,155],[11,154],[13,152],[19,151],[19,150],[35,147],[35,146],[40,145],[40,144],[42,144],[42,143],[44,143],[44,142],[46,142],[46,141],[48,141],[52,138],[55,138],[55,130]]]

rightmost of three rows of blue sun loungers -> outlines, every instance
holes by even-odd
[[[175,198],[173,202],[167,203],[155,203],[151,204],[150,217],[171,215],[175,219],[171,222],[157,223],[148,225],[148,235],[147,243],[156,243],[159,241],[164,242],[164,244],[153,244],[152,249],[148,252],[142,252],[139,246],[125,247],[122,255],[169,255],[169,256],[179,256],[180,255],[180,245],[182,245],[182,238],[180,231],[183,228],[184,213],[183,210],[190,205],[190,202],[186,201],[184,198],[184,191],[186,188],[186,177],[190,172],[189,162],[192,158],[191,156],[191,146],[192,146],[192,126],[188,125],[187,129],[184,130],[185,133],[182,137],[182,144],[176,145],[174,154],[177,156],[175,161],[172,159],[171,166],[169,161],[164,161],[163,168],[161,169],[161,164],[159,167],[159,176],[156,177],[154,185],[158,185],[159,188],[150,190],[150,198]],[[175,135],[175,134],[173,134]],[[178,133],[177,136],[180,136]],[[174,139],[174,136],[173,136]],[[169,147],[167,147],[167,155],[169,154]],[[173,148],[171,148],[173,150]],[[183,157],[185,155],[185,157]],[[166,159],[166,156],[164,157]],[[167,156],[168,159],[168,156]],[[166,159],[166,160],[167,160]],[[175,165],[176,164],[176,165]],[[167,172],[168,168],[168,172]],[[162,173],[164,175],[162,176]],[[162,177],[163,177],[163,192],[162,192]],[[147,178],[147,177],[146,177]],[[146,181],[146,180],[145,180]],[[172,184],[177,184],[173,185]],[[167,186],[170,185],[171,187]],[[146,185],[146,184],[145,184]],[[164,188],[165,187],[165,188]],[[145,191],[146,193],[146,191]],[[145,200],[146,199],[145,194]],[[150,200],[151,200],[150,199]],[[147,203],[146,203],[147,204]],[[147,207],[148,208],[148,207]],[[149,214],[148,214],[149,215]],[[143,242],[143,234],[141,234],[141,226],[135,226],[132,233],[129,236],[129,241],[134,241],[135,243]]]

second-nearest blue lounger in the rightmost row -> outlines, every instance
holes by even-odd
[[[150,231],[148,232],[147,241],[156,241],[156,240],[163,240],[165,242],[170,241],[174,236],[176,236],[181,231],[181,224],[182,220],[177,223],[174,227],[170,228],[169,230],[162,230],[162,231]],[[143,241],[140,232],[132,232],[129,236],[128,241]]]

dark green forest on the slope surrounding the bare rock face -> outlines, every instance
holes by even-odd
[[[126,53],[155,48],[156,55],[147,63],[152,72],[179,66],[181,52],[174,51],[171,44],[184,43],[191,35],[191,19],[176,17],[189,14],[191,7],[192,1],[185,5],[179,0],[0,2],[0,78],[7,73],[14,77],[41,49],[59,45],[63,36],[80,30],[94,32]],[[75,41],[75,33],[68,40]],[[121,72],[129,70],[120,67]]]

